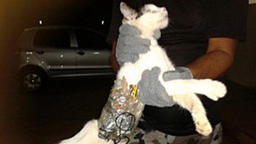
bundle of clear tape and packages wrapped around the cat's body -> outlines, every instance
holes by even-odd
[[[99,137],[114,143],[128,143],[144,109],[137,85],[130,86],[123,77],[116,80],[98,120]]]

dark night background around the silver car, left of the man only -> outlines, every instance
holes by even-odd
[[[40,26],[39,20],[43,26],[82,26],[107,34],[111,7],[112,0],[0,1],[1,144],[56,143],[99,116],[114,77],[58,80],[28,94],[14,79],[12,52],[23,30]]]

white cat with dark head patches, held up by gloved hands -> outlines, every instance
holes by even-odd
[[[166,55],[166,52],[158,45],[153,37],[156,29],[163,29],[168,25],[168,12],[165,7],[156,7],[153,4],[146,4],[141,9],[141,16],[135,10],[121,2],[120,10],[124,15],[123,24],[137,27],[141,32],[141,37],[149,39],[150,50],[140,54],[139,60],[135,63],[124,63],[117,74],[117,79],[126,78],[128,85],[137,85],[144,70],[151,70],[153,67],[160,67],[161,73],[159,81],[165,87],[168,95],[173,96],[173,101],[181,107],[191,112],[196,131],[204,136],[212,132],[212,127],[206,117],[205,109],[196,96],[203,94],[208,98],[217,101],[226,94],[224,84],[211,79],[187,79],[171,80],[164,82],[162,74],[166,71],[174,70],[174,65]],[[115,85],[118,81],[115,81]],[[113,88],[115,88],[115,85]],[[97,120],[89,121],[84,128],[74,137],[62,141],[60,144],[113,144],[98,138]]]

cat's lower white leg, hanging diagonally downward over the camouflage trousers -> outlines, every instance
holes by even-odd
[[[173,101],[191,113],[198,133],[204,136],[211,134],[211,124],[206,116],[203,104],[196,94],[173,95]]]

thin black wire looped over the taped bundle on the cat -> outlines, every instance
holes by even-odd
[[[117,123],[117,120],[119,117],[121,117],[120,125],[118,125]],[[131,117],[131,123],[128,129],[122,129],[122,123],[124,121],[124,117]],[[128,136],[121,136],[121,131],[124,131],[123,135],[125,135],[128,131],[130,131],[135,125],[135,119],[136,119],[135,116],[129,112],[123,112],[116,117],[115,123],[116,123],[116,126],[119,128],[119,140],[117,141],[114,139],[113,140],[114,144],[118,144],[123,139],[127,139],[127,142],[125,144],[128,144],[130,142],[130,138]]]

